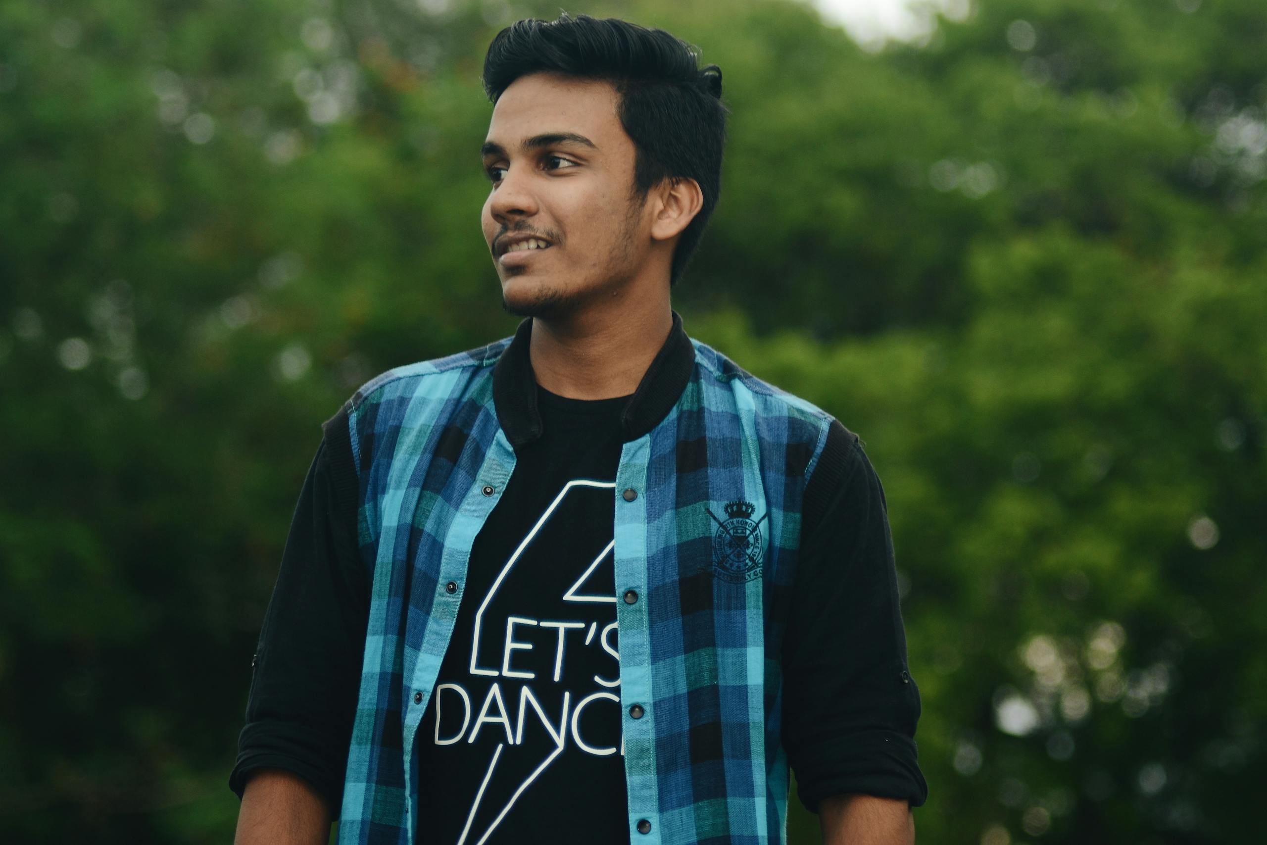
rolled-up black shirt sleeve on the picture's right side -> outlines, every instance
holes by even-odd
[[[835,419],[806,485],[783,655],[783,736],[801,802],[817,812],[826,797],[856,793],[922,804],[920,693],[884,490],[858,436]]]

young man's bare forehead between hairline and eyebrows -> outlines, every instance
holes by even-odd
[[[627,139],[616,101],[616,89],[608,82],[559,73],[521,76],[493,106],[487,141],[513,151],[536,134],[574,132],[599,149],[611,149]]]

